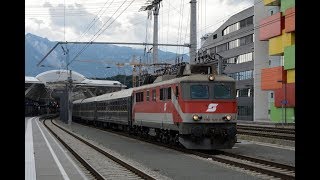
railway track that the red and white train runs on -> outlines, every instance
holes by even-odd
[[[82,124],[82,123],[79,123],[79,124]],[[244,168],[244,169],[254,171],[257,173],[261,173],[264,175],[268,175],[271,177],[281,178],[281,179],[295,179],[295,167],[294,166],[289,166],[286,164],[280,164],[280,163],[276,163],[276,162],[272,162],[272,161],[258,159],[255,157],[243,156],[243,155],[220,151],[220,150],[216,150],[213,152],[212,151],[206,152],[206,151],[188,150],[188,149],[185,149],[182,147],[172,146],[172,145],[164,144],[164,143],[161,143],[158,141],[152,141],[150,139],[145,139],[145,138],[142,138],[139,136],[132,136],[132,135],[129,135],[124,132],[112,131],[110,129],[96,127],[93,125],[86,125],[86,124],[82,124],[82,125],[97,128],[97,129],[111,132],[114,134],[126,136],[128,138],[152,143],[152,144],[155,144],[158,146],[163,146],[166,148],[174,149],[174,150],[177,150],[177,151],[180,151],[183,153],[193,154],[196,156],[200,156],[202,158],[206,158],[206,159],[211,158],[213,161],[225,163],[225,164],[232,165],[232,166],[239,167],[239,168]]]

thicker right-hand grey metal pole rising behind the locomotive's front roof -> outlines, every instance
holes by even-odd
[[[190,1],[190,64],[196,63],[197,54],[197,1]]]

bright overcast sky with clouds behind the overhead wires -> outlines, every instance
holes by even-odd
[[[46,37],[51,41],[152,42],[153,17],[148,19],[147,11],[139,11],[146,2],[147,0],[26,0],[25,33]],[[162,1],[159,43],[189,43],[189,2],[190,0]],[[198,0],[198,48],[201,36],[213,32],[228,17],[252,5],[253,0]],[[188,52],[187,48],[160,49]]]

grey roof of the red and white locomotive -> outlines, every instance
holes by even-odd
[[[158,83],[153,83],[153,84],[148,84],[148,85],[143,85],[140,87],[136,87],[134,88],[135,91],[137,90],[141,90],[141,89],[145,89],[145,88],[152,88],[152,87],[156,87],[156,86],[161,86],[161,85],[166,85],[166,84],[174,84],[174,83],[180,83],[183,81],[188,81],[188,82],[199,82],[199,81],[205,81],[205,82],[209,82],[208,80],[208,75],[207,74],[194,74],[191,76],[183,76],[183,77],[179,77],[179,78],[174,78],[174,79],[170,79],[167,81],[161,81]],[[229,76],[225,76],[225,75],[216,75],[215,79],[213,82],[215,81],[234,81],[233,78],[229,77]]]

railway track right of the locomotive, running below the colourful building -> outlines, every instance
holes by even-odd
[[[237,125],[237,133],[283,140],[295,140],[294,129]]]

